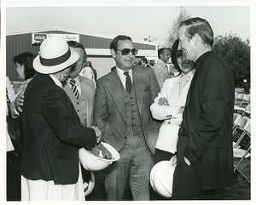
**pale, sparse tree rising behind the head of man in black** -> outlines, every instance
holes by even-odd
[[[172,44],[177,39],[177,30],[178,30],[179,24],[183,20],[187,20],[189,18],[190,18],[189,12],[186,9],[183,9],[183,7],[181,7],[177,18],[172,21],[173,22],[172,29],[168,31],[169,36],[168,36],[168,39],[166,40],[166,47],[172,48]]]

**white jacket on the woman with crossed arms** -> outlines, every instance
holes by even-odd
[[[190,71],[187,75],[192,79],[195,70]],[[187,94],[191,81],[186,83],[181,94],[179,94],[182,75],[167,79],[161,86],[160,93],[154,99],[150,110],[155,119],[165,120],[158,135],[155,147],[162,151],[175,153],[177,151],[177,132],[182,122],[182,114],[177,114],[181,106],[186,103]],[[166,98],[169,105],[158,105],[160,98]],[[172,117],[170,119],[170,117]]]

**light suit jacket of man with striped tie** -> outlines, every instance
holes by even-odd
[[[73,94],[72,89],[68,83],[63,83],[63,89],[66,91],[70,100],[73,102],[75,110],[79,115],[80,122],[84,127],[90,127],[93,122],[93,102],[95,97],[96,85],[95,83],[86,78],[79,76],[79,84],[81,94],[79,100]]]

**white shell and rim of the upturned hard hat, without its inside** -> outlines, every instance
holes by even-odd
[[[112,145],[104,142],[101,142],[101,144],[110,152],[112,158],[105,159],[103,157],[98,157],[90,153],[90,151],[86,151],[84,148],[81,148],[79,149],[79,160],[85,169],[89,171],[99,171],[107,168],[109,164],[119,160],[119,152],[116,151]]]

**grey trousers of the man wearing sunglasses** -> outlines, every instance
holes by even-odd
[[[145,141],[132,131],[119,154],[120,159],[105,170],[107,200],[123,200],[127,180],[133,200],[149,200],[149,174],[154,161]]]

